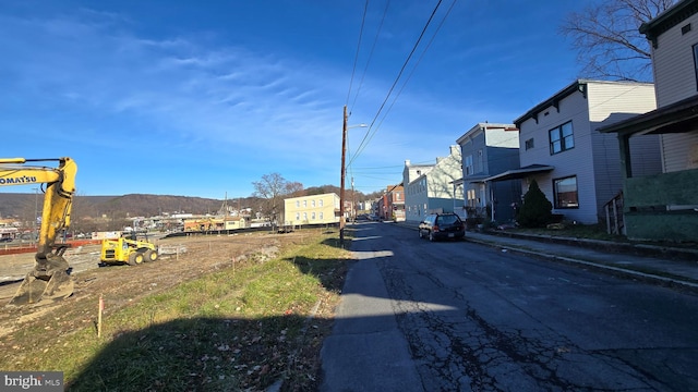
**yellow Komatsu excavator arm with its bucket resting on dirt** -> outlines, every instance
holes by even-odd
[[[47,161],[58,162],[57,167],[34,163]],[[63,258],[69,245],[56,244],[56,238],[70,226],[76,173],[77,166],[71,158],[0,158],[0,186],[40,184],[44,192],[34,270],[26,274],[9,305],[46,303],[73,293],[74,281]]]

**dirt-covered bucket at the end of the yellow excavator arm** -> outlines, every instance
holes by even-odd
[[[46,259],[38,259],[34,270],[26,274],[24,281],[8,304],[21,306],[32,304],[47,304],[68,298],[73,294],[75,282],[68,274],[68,261],[61,256],[52,255]]]

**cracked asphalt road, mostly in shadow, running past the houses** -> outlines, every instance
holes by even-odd
[[[698,297],[390,223],[358,259],[323,391],[698,391]]]

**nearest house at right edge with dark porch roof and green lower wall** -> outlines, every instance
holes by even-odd
[[[696,29],[694,29],[694,25]],[[623,230],[633,240],[698,240],[698,0],[640,26],[651,42],[658,108],[603,126],[617,137]],[[617,113],[614,113],[617,115]],[[655,135],[660,171],[637,171],[637,139]]]

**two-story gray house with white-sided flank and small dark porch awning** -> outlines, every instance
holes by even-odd
[[[553,204],[553,213],[598,223],[623,181],[617,138],[597,128],[654,108],[652,84],[575,81],[514,121],[519,128],[521,169],[490,180],[526,179],[526,193],[534,179]],[[637,146],[642,154],[637,170],[658,172],[658,138],[638,138]]]

